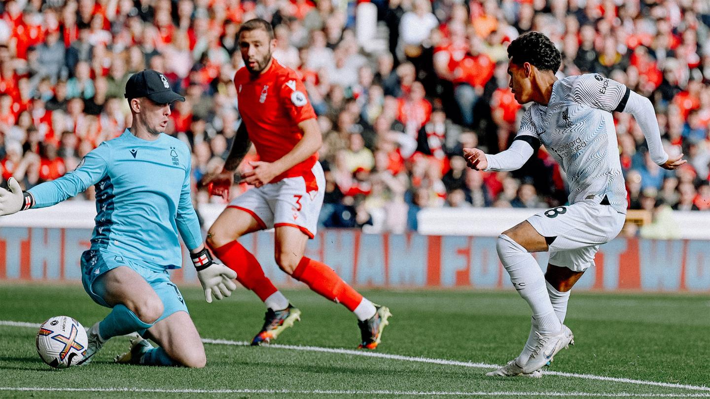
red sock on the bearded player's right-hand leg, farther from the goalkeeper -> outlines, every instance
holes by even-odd
[[[311,290],[337,303],[342,303],[351,312],[362,301],[362,295],[345,283],[335,270],[326,264],[301,258],[291,277],[308,285]]]

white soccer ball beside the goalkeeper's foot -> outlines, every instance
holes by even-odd
[[[72,317],[55,316],[48,319],[37,332],[37,353],[54,368],[74,366],[87,354],[87,332]]]

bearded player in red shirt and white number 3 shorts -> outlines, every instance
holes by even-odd
[[[252,345],[268,343],[300,319],[300,310],[266,278],[256,258],[239,244],[240,236],[275,229],[275,261],[281,270],[311,290],[342,303],[359,319],[359,348],[375,349],[388,324],[387,307],[374,305],[345,283],[332,268],[304,256],[312,239],[324,197],[325,179],[317,151],[322,138],[315,111],[296,72],[272,58],[276,41],[271,24],[246,21],[237,33],[244,60],[234,76],[242,123],[219,175],[203,178],[212,192],[224,193],[251,143],[261,160],[241,179],[255,188],[236,197],[207,234],[207,246],[236,271],[239,283],[253,290],[268,307],[263,327]],[[217,190],[214,190],[218,183]]]

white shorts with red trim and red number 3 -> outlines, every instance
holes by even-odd
[[[323,168],[316,162],[305,176],[252,187],[229,203],[251,214],[262,229],[294,226],[310,239],[315,236],[325,195]]]

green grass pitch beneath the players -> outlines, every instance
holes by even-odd
[[[182,293],[204,339],[249,341],[261,327],[263,305],[244,289],[212,304],[204,302],[199,288],[184,287]],[[278,345],[205,344],[207,367],[200,370],[112,364],[127,348],[125,337],[111,339],[87,367],[53,370],[36,354],[35,329],[0,323],[0,398],[196,395],[186,390],[204,390],[199,393],[204,398],[710,397],[710,388],[704,388],[710,386],[707,295],[573,292],[567,325],[577,345],[561,351],[547,370],[575,376],[505,379],[484,376],[490,368],[480,364],[505,364],[520,352],[530,313],[514,292],[365,292],[393,313],[374,353],[398,357],[320,349],[354,349],[355,317],[308,290],[285,294],[302,310],[302,321],[284,332]],[[89,327],[107,312],[79,284],[0,284],[2,321],[40,323],[69,315]]]

